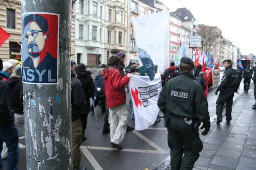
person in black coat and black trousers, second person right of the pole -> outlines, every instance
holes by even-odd
[[[93,96],[95,88],[93,78],[90,76],[90,71],[86,71],[86,67],[83,63],[78,65],[76,74],[77,78],[81,81],[81,85],[84,91],[84,100],[86,102],[86,105],[82,107],[81,111],[81,124],[83,128],[82,141],[85,141],[86,137],[84,137],[84,131],[87,125],[87,116],[90,113],[90,98]]]

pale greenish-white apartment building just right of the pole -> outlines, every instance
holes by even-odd
[[[77,0],[73,4],[75,20],[75,61],[100,65],[105,59],[105,2]]]

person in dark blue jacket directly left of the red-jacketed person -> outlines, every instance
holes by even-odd
[[[94,100],[94,107],[98,105],[99,102],[101,102],[101,111],[102,113],[106,112],[106,106],[105,106],[105,90],[104,90],[104,78],[103,78],[103,71],[104,68],[101,68],[99,70],[99,74],[95,77],[94,87],[95,87],[95,93],[94,96],[96,99]],[[91,106],[93,107],[93,106]]]

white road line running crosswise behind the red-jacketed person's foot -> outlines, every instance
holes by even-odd
[[[142,150],[142,149],[125,149],[117,150],[116,148],[112,147],[96,147],[96,146],[81,146],[80,148],[87,148],[87,149],[94,149],[94,150],[112,150],[112,151],[122,151],[122,152],[135,152],[135,153],[157,153],[157,154],[169,154],[164,152],[161,152],[159,150]]]

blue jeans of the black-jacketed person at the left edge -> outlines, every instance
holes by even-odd
[[[8,148],[6,170],[17,170],[19,160],[19,135],[15,124],[0,128],[0,153],[3,150],[3,142],[6,142],[6,146]],[[1,154],[0,170],[3,170]]]

